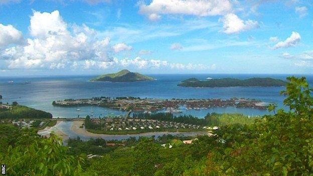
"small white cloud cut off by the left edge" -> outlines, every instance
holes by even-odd
[[[0,48],[10,44],[21,44],[23,41],[22,32],[12,25],[0,24]]]

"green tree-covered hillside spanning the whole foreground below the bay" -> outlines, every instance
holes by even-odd
[[[206,120],[218,129],[194,137],[72,138],[63,145],[54,133],[0,124],[0,161],[8,175],[311,175],[312,93],[304,77],[288,77],[281,92],[287,111],[270,105],[271,115],[232,123],[213,114]]]

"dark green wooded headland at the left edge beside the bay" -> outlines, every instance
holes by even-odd
[[[0,111],[3,118],[52,118],[52,114],[15,103],[10,109]]]

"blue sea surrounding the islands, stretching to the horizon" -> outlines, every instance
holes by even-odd
[[[225,87],[225,88],[190,88],[177,86],[181,81],[188,78],[237,78],[247,79],[252,77],[271,77],[285,80],[287,74],[151,74],[155,81],[143,82],[90,82],[97,75],[84,76],[24,76],[24,77],[1,77],[0,95],[3,103],[17,101],[35,109],[44,110],[57,117],[92,117],[125,115],[122,110],[114,110],[97,106],[81,107],[55,107],[53,101],[64,99],[81,99],[100,96],[119,97],[132,96],[140,98],[254,98],[268,103],[275,103],[279,108],[287,109],[282,103],[285,98],[280,91],[285,87]],[[313,85],[313,75],[305,76],[310,85]],[[77,111],[76,109],[80,109]],[[203,118],[207,113],[242,113],[249,116],[269,114],[267,110],[248,108],[210,108],[202,110],[186,110],[183,113]],[[177,115],[180,115],[177,114]]]

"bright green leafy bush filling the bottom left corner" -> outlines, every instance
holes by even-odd
[[[17,144],[1,153],[9,175],[79,175],[83,158],[69,155],[67,147],[53,134],[37,139],[28,141],[27,147],[26,143]]]

